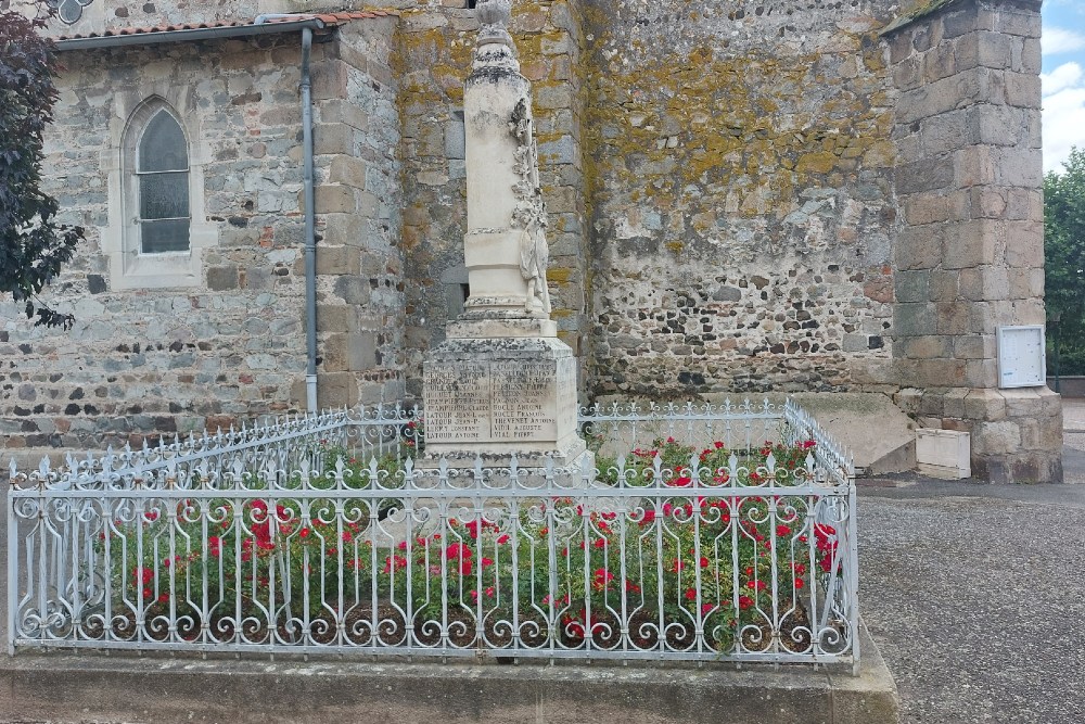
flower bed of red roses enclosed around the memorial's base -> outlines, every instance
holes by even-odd
[[[421,444],[421,443],[420,443]],[[545,493],[421,484],[409,462],[102,500],[90,640],[623,657],[847,650],[846,491],[810,448],[674,439]],[[405,458],[409,459],[408,458]],[[552,483],[553,481],[551,481]],[[559,486],[560,487],[560,486]],[[558,494],[553,494],[557,492]]]

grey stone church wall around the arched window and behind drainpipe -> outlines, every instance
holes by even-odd
[[[403,395],[395,18],[314,46],[321,405]],[[87,242],[48,294],[71,332],[0,303],[0,433],[9,452],[104,447],[305,408],[297,34],[68,51],[46,173]],[[183,119],[191,281],[118,276],[120,142],[158,96]],[[126,284],[129,288],[125,288]]]

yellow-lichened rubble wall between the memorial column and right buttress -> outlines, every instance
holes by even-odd
[[[889,2],[587,3],[592,393],[889,382]]]

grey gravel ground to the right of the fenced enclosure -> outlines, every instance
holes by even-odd
[[[1085,722],[1085,486],[866,481],[858,524],[902,724]]]

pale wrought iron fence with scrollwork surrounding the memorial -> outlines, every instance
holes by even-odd
[[[401,408],[13,469],[9,646],[854,665],[850,463],[750,414],[586,410],[672,442],[577,469],[416,465]],[[728,415],[784,435],[681,442]]]

